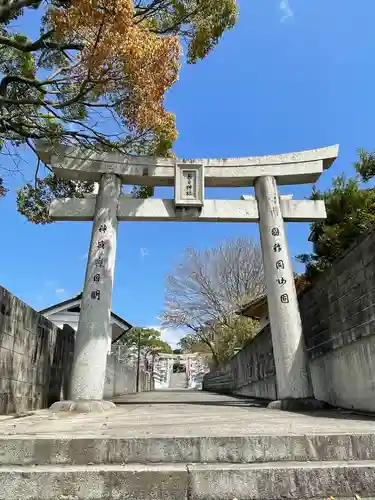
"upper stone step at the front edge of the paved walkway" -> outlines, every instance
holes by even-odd
[[[375,434],[0,438],[0,465],[375,460]]]

